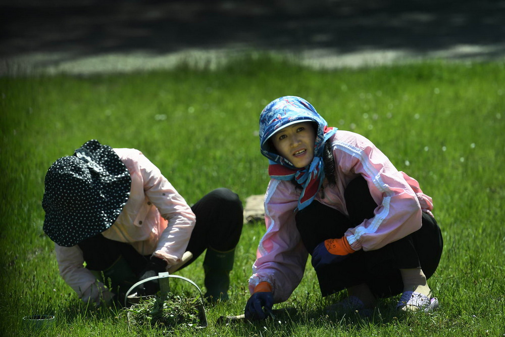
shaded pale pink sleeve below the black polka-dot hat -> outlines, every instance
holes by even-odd
[[[94,275],[84,268],[84,259],[79,246],[62,247],[55,244],[56,260],[60,275],[84,302],[98,304],[100,298],[110,299],[110,293],[102,282],[98,282]]]

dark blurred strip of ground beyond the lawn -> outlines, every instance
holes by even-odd
[[[2,73],[212,65],[251,51],[356,67],[502,58],[505,1],[11,0],[0,29]]]

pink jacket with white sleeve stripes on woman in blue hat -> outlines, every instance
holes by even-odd
[[[423,194],[418,182],[396,170],[373,143],[354,132],[338,130],[329,139],[335,160],[335,185],[323,182],[315,200],[347,214],[344,190],[357,176],[363,176],[379,205],[371,219],[345,232],[354,250],[379,249],[421,228],[421,214],[431,214],[432,199]],[[296,229],[294,210],[300,190],[290,181],[271,179],[265,194],[267,231],[260,240],[252,266],[249,291],[262,281],[273,287],[274,301],[286,301],[304,275],[308,252]]]

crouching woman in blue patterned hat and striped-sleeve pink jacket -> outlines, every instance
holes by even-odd
[[[270,161],[267,231],[260,241],[248,319],[264,319],[304,275],[308,254],[322,296],[346,289],[327,313],[370,315],[378,298],[402,293],[403,311],[432,311],[426,280],[443,241],[432,199],[374,144],[328,127],[304,99],[286,96],[260,116],[261,153]]]

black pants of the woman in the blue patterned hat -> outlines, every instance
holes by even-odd
[[[325,239],[342,237],[348,228],[374,216],[377,204],[364,178],[352,180],[344,198],[348,217],[317,201],[296,214],[296,226],[309,253]],[[321,268],[317,276],[322,296],[361,283],[367,283],[377,297],[399,294],[403,291],[399,269],[421,267],[429,278],[438,267],[443,240],[433,217],[423,213],[422,224],[416,232],[378,250],[360,250],[341,263]]]

